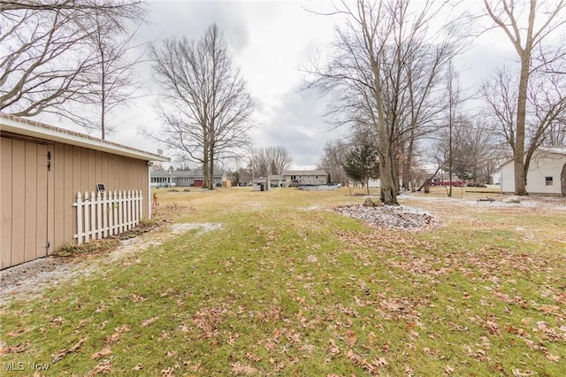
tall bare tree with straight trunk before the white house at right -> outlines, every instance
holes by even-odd
[[[554,4],[530,0],[528,4],[517,3],[514,0],[484,0],[486,13],[495,27],[500,28],[516,50],[520,62],[518,85],[514,112],[516,112],[516,127],[513,135],[513,159],[515,165],[515,194],[527,195],[525,187],[526,171],[524,161],[525,129],[528,122],[527,102],[529,97],[529,82],[532,75],[546,69],[551,63],[545,55],[553,60],[563,59],[566,51],[563,45],[560,50],[549,50],[545,42],[564,26],[564,9],[566,0]],[[538,17],[541,17],[539,20]],[[545,65],[533,64],[537,60],[546,61]],[[528,167],[528,166],[527,166]]]

